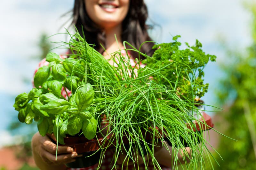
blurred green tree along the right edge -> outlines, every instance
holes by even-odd
[[[252,12],[252,45],[245,54],[229,51],[230,62],[222,66],[226,78],[220,82],[219,101],[228,105],[220,112],[227,123],[217,149],[220,166],[214,169],[256,169],[256,3],[247,5]],[[230,99],[232,98],[232,102]]]

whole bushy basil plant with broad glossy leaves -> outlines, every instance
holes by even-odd
[[[74,136],[81,131],[87,139],[94,138],[97,121],[89,111],[94,90],[90,83],[80,81],[83,75],[79,74],[85,67],[79,60],[62,59],[56,53],[48,53],[46,61],[49,65],[40,67],[34,76],[35,88],[15,98],[13,107],[19,111],[19,121],[36,121],[42,136],[54,133],[60,144],[64,144],[66,135]],[[72,91],[72,96],[68,91]]]

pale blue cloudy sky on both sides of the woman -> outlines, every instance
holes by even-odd
[[[0,133],[7,136],[0,139],[0,146],[8,143],[7,125],[18,112],[12,104],[14,97],[28,92],[32,85],[24,79],[32,80],[38,60],[37,47],[42,32],[48,35],[65,32],[61,27],[69,17],[60,18],[73,7],[73,0],[10,0],[1,2],[0,11],[0,72],[1,72],[1,122]],[[145,0],[149,19],[156,26],[151,36],[156,42],[169,42],[171,35],[181,35],[181,42],[190,45],[198,39],[206,53],[217,56],[216,63],[205,68],[205,82],[209,82],[209,92],[203,98],[207,104],[214,104],[216,81],[222,75],[218,63],[228,62],[219,39],[225,39],[231,48],[244,50],[250,44],[250,13],[243,7],[242,0]],[[149,23],[150,23],[149,20]],[[67,24],[68,25],[68,24]],[[66,25],[66,27],[67,27]],[[52,41],[65,41],[58,35]],[[62,53],[63,51],[56,51]]]

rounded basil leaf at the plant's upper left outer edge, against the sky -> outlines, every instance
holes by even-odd
[[[39,88],[39,86],[42,86],[45,81],[47,81],[49,75],[50,75],[50,67],[43,66],[40,67],[34,77],[34,85],[36,88]]]

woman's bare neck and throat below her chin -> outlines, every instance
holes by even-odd
[[[122,25],[118,25],[114,28],[105,30],[105,36],[106,36],[106,44],[105,48],[106,51],[103,53],[106,59],[110,58],[110,54],[118,51],[120,48],[122,48]],[[115,37],[116,35],[116,37]]]

